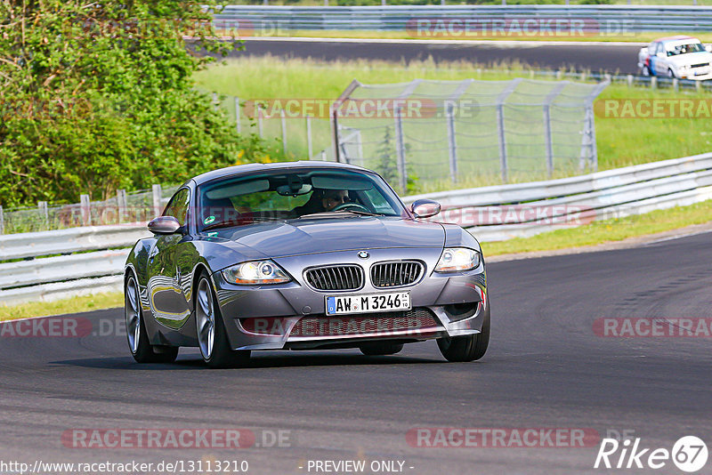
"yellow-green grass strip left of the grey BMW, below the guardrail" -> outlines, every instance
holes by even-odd
[[[0,305],[0,321],[15,318],[44,317],[49,315],[64,315],[90,310],[111,309],[124,305],[124,294],[82,295],[71,299],[54,302],[30,302],[20,305]]]

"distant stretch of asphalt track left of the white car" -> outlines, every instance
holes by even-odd
[[[546,42],[408,42],[247,39],[245,50],[231,57],[264,56],[313,58],[316,60],[389,60],[409,62],[433,58],[442,61],[472,61],[482,65],[518,61],[533,68],[573,68],[577,71],[637,73],[640,44],[562,44]]]

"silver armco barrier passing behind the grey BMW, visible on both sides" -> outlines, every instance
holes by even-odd
[[[404,201],[418,198],[441,202],[443,213],[434,221],[449,221],[453,210],[456,214],[511,207],[554,210],[540,220],[517,213],[504,213],[505,219],[494,223],[450,220],[481,241],[528,237],[558,229],[561,222],[575,226],[712,199],[712,153],[560,180],[430,193]],[[148,235],[142,224],[135,223],[2,236],[0,260],[13,261],[0,263],[0,302],[120,291],[128,247]]]

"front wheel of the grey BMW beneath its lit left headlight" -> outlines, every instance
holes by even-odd
[[[215,301],[213,286],[203,273],[198,279],[195,302],[196,333],[203,361],[211,368],[243,366],[250,352],[232,350],[220,306]]]

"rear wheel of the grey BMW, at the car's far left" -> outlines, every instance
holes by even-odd
[[[131,356],[137,363],[173,363],[175,361],[175,358],[178,357],[178,347],[154,346],[149,342],[146,325],[143,323],[138,285],[133,275],[126,279],[124,315],[128,349],[131,350]]]

